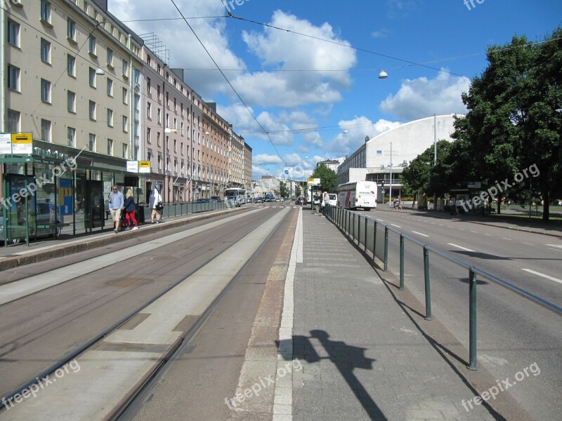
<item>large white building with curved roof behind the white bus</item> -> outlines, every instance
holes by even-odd
[[[454,121],[454,114],[431,116],[410,121],[374,138],[367,136],[365,143],[339,165],[338,185],[350,181],[375,181],[379,184],[379,201],[382,185],[386,194],[392,189],[393,196],[398,196],[402,187],[400,174],[404,168],[436,141],[452,142]]]

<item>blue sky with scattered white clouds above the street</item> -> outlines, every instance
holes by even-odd
[[[252,148],[254,180],[303,180],[367,135],[464,114],[461,94],[485,70],[489,46],[514,35],[542,41],[562,25],[561,0],[109,0],[108,8],[136,34],[155,34],[169,67],[217,103]]]

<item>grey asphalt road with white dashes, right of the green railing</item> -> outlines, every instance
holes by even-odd
[[[561,239],[443,218],[440,214],[360,213],[555,305],[562,304]],[[384,232],[377,230],[378,250],[382,250],[383,239]],[[391,233],[389,240],[388,268],[398,274],[398,235]],[[406,241],[405,285],[423,303],[422,256],[420,246]],[[468,348],[468,272],[436,255],[430,255],[430,265],[433,316]],[[461,357],[469,359],[468,354]],[[558,419],[562,413],[560,316],[486,280],[478,281],[478,363],[498,380],[509,377],[514,383],[509,392],[537,420]],[[525,369],[530,375],[518,375]],[[516,375],[521,381],[515,380]]]

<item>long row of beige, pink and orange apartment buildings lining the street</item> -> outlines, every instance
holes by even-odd
[[[112,229],[113,184],[133,188],[138,203],[148,202],[155,185],[171,203],[221,196],[231,180],[244,184],[243,138],[183,81],[181,69],[107,11],[107,1],[5,5],[2,236],[15,237],[26,220],[39,218],[39,205],[56,213],[67,234]],[[15,145],[17,133],[31,135]],[[138,161],[149,161],[150,172],[128,165]],[[18,192],[31,188],[25,210]]]

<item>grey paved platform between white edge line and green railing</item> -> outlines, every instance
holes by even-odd
[[[476,405],[494,377],[468,370],[468,351],[327,218],[302,212],[293,359],[303,369],[292,377],[293,420],[530,419],[509,392]]]

